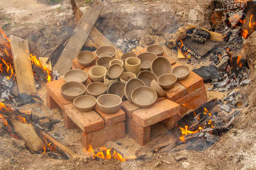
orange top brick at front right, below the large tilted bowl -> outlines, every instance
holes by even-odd
[[[156,124],[166,118],[170,118],[173,115],[180,115],[179,104],[165,99],[155,103],[149,108],[141,108],[139,110],[133,111],[132,119],[137,124],[148,127],[150,125]]]

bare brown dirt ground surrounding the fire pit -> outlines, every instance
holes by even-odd
[[[109,0],[103,1],[104,9],[95,26],[114,43],[117,39],[137,39],[140,46],[148,41],[165,45],[168,35],[180,26],[191,23],[210,29],[209,2],[207,0]],[[79,6],[85,11],[88,3],[79,0]],[[1,0],[0,25],[9,36],[13,34],[29,41],[30,52],[39,57],[49,57],[66,36],[74,29],[74,16],[69,0]],[[149,39],[149,40],[148,40]],[[177,54],[165,48],[166,52],[178,62]],[[192,68],[205,64],[207,59],[193,60]],[[82,160],[52,159],[47,153],[32,154],[24,147],[24,141],[14,139],[0,130],[0,167],[1,169],[256,169],[256,118],[255,71],[252,67],[249,85],[239,87],[248,97],[249,106],[244,108],[235,119],[230,131],[221,136],[205,152],[182,150],[175,153],[148,155],[145,160],[120,162],[118,160]],[[209,83],[205,84],[210,87]],[[38,90],[45,100],[45,87]],[[208,91],[208,98],[223,99],[226,93]],[[31,109],[38,117],[49,117],[61,122],[54,125],[49,134],[77,154],[84,154],[81,146],[81,131],[65,129],[60,110],[48,110],[45,103],[27,104],[22,109]],[[132,143],[129,136],[121,140],[122,147],[116,142],[106,146],[115,146],[124,154],[134,152],[140,147],[125,146]],[[122,151],[122,148],[127,149]],[[175,157],[184,155],[187,159],[177,161]],[[168,162],[161,162],[165,160]]]

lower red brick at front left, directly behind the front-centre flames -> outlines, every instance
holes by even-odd
[[[104,127],[99,131],[88,132],[82,134],[82,144],[86,150],[89,145],[92,145],[92,148],[97,148],[103,146],[104,143],[108,141],[114,141],[116,139],[123,138],[125,134],[125,125],[124,122],[120,122],[115,125]]]

